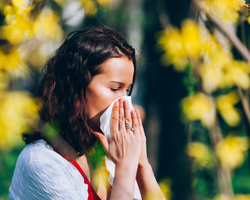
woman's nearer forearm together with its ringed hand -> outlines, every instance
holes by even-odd
[[[126,129],[125,122],[132,125],[134,131]],[[128,102],[119,99],[119,102],[114,103],[112,111],[110,142],[102,133],[95,132],[95,135],[108,156],[116,164],[110,200],[133,199],[141,154],[141,134],[136,112],[130,112]]]

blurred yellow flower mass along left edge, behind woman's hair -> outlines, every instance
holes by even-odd
[[[100,6],[109,6],[110,2],[77,0],[74,6],[79,4],[79,7],[73,6],[73,9],[84,13],[79,15],[84,18],[96,14]],[[27,132],[39,119],[36,100],[28,92],[20,92],[14,80],[25,81],[30,71],[39,71],[61,44],[68,20],[62,15],[72,12],[67,10],[70,3],[69,0],[0,3],[3,16],[0,24],[0,149],[11,149],[21,141],[19,133]]]

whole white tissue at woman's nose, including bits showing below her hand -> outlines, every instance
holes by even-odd
[[[120,99],[120,98],[123,98],[124,100],[127,100],[129,102],[130,110],[134,109],[132,102],[131,102],[131,96],[123,96],[123,97],[119,97],[118,99]],[[116,99],[115,101],[117,101],[118,99]],[[107,108],[107,110],[100,117],[100,128],[101,128],[103,134],[107,137],[108,141],[110,141],[110,138],[111,138],[111,114],[112,114],[112,109],[113,109],[113,105],[114,105],[115,101],[110,104],[110,106]],[[104,160],[105,160],[107,170],[109,172],[108,182],[110,185],[113,185],[113,181],[114,181],[114,177],[115,177],[115,164],[110,159],[108,159],[106,156],[104,157]],[[124,172],[124,173],[126,173],[126,172]],[[134,189],[134,198],[133,199],[134,200],[141,200],[142,199],[137,181],[135,181],[135,189]]]

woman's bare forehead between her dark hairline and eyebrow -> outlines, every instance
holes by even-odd
[[[109,79],[119,79],[119,81],[133,82],[134,64],[126,57],[110,58],[102,66],[102,75]]]

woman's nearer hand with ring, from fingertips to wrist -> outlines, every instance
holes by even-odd
[[[127,129],[125,122],[131,125],[134,130]],[[138,166],[141,155],[141,130],[139,118],[136,111],[131,111],[127,101],[119,99],[114,103],[111,117],[111,139],[95,132],[100,140],[107,155],[117,165],[129,162],[131,165]]]

